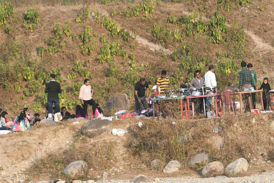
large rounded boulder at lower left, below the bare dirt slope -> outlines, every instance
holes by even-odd
[[[73,161],[63,170],[66,177],[85,175],[88,171],[89,167],[85,161]]]

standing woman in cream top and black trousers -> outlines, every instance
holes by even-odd
[[[93,94],[93,89],[91,89],[90,80],[85,79],[84,84],[81,86],[80,92],[79,92],[79,99],[81,100],[81,104],[84,110],[84,115],[82,117],[85,117],[87,114],[88,104],[92,106],[92,112],[93,114],[95,114],[96,102],[93,100],[92,94]],[[95,117],[98,117],[98,116],[94,115],[93,118]]]

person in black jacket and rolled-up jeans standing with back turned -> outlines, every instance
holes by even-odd
[[[55,74],[51,74],[51,81],[47,82],[45,93],[47,93],[47,109],[48,109],[48,118],[51,120],[52,118],[52,105],[54,103],[55,112],[57,113],[58,122],[60,122],[61,113],[60,113],[60,105],[59,105],[59,93],[61,94],[61,86],[55,81]]]

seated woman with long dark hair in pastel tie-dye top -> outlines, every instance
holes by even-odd
[[[26,117],[26,110],[23,110],[19,116],[13,121],[12,131],[26,131],[30,127],[28,118]]]

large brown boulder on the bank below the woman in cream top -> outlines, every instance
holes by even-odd
[[[82,128],[81,133],[89,138],[94,138],[107,131],[112,125],[110,120],[101,120],[100,118],[94,118],[89,120]]]

